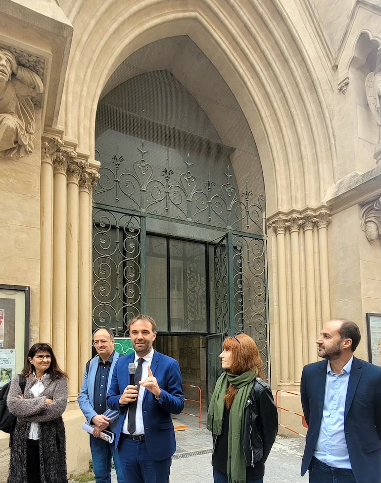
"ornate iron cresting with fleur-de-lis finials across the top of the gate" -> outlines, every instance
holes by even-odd
[[[135,161],[126,162],[115,154],[111,160],[114,169],[110,168],[110,163],[108,166],[107,162],[102,163],[99,183],[94,191],[95,203],[98,200],[104,203],[103,194],[107,194],[108,203],[113,199],[115,206],[137,212],[263,235],[264,197],[260,195],[256,202],[254,190],[249,189],[248,183],[244,192],[238,192],[229,164],[225,172],[219,170],[217,174],[226,176],[225,183],[218,184],[209,170],[207,179],[200,184],[192,172],[194,163],[190,153],[183,159],[185,172],[177,175],[170,167],[170,149],[167,147],[163,160],[166,165],[155,174],[154,166],[145,159],[149,151],[144,141],[137,150],[140,159]]]

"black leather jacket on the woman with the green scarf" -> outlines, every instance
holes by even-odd
[[[246,466],[266,461],[277,432],[278,411],[271,388],[257,377],[244,409],[242,443]]]

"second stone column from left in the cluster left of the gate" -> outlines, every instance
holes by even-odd
[[[52,347],[61,369],[66,354],[66,168],[63,152],[53,155]]]

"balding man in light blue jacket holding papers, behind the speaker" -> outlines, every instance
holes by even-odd
[[[114,442],[109,443],[98,437],[102,429],[114,431],[117,424],[116,421],[110,425],[109,418],[103,415],[108,409],[107,390],[119,359],[119,354],[114,350],[114,334],[107,328],[99,328],[93,334],[93,344],[97,355],[86,365],[78,404],[88,422],[95,427],[93,435],[90,435],[95,482],[111,483],[112,456],[118,483],[124,483]]]

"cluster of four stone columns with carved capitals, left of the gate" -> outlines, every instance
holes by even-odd
[[[56,137],[41,164],[40,341],[51,342],[75,400],[91,353],[92,190],[98,174]]]

